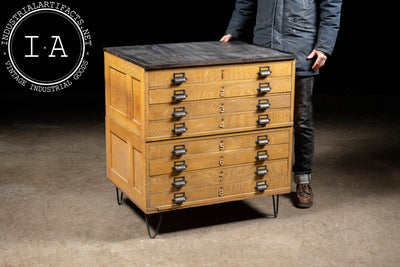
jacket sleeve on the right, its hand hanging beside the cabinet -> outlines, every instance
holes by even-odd
[[[340,25],[342,0],[319,1],[319,28],[316,50],[332,54]]]

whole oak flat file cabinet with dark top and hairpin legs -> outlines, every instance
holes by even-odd
[[[104,61],[118,201],[146,215],[290,192],[292,55],[195,42],[105,48]]]

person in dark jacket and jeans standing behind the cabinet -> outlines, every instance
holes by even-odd
[[[314,203],[314,76],[333,52],[341,6],[342,0],[237,0],[226,34],[220,40],[239,39],[255,18],[254,44],[296,57],[293,172],[299,208],[309,208]]]

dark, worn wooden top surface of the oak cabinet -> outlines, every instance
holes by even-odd
[[[104,51],[147,70],[294,59],[291,54],[240,41],[120,46]]]

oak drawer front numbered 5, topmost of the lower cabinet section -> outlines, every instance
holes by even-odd
[[[205,153],[217,153],[238,149],[264,149],[271,145],[287,144],[291,132],[289,129],[257,131],[256,133],[229,134],[223,137],[198,138],[152,143],[149,146],[149,159],[179,159]],[[182,150],[183,149],[183,150]],[[182,154],[183,153],[183,154]]]

